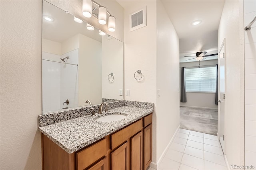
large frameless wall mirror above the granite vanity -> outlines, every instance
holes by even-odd
[[[46,1],[42,15],[42,113],[123,100],[123,42]]]

